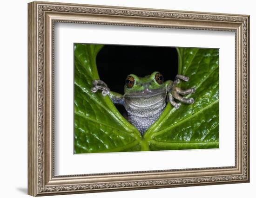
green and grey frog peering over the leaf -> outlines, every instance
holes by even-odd
[[[184,104],[194,103],[194,98],[181,95],[192,94],[195,88],[182,90],[177,85],[181,81],[189,81],[189,77],[177,74],[174,81],[164,82],[159,71],[145,77],[129,74],[124,85],[124,94],[110,91],[102,80],[94,80],[91,91],[101,91],[102,96],[109,96],[115,105],[123,105],[126,109],[126,119],[143,135],[147,129],[160,117],[168,102],[175,108]],[[182,103],[181,103],[182,102]]]

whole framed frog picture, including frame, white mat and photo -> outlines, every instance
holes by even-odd
[[[249,16],[28,4],[28,194],[249,182]]]

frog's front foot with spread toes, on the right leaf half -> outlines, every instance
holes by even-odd
[[[182,75],[177,75],[174,81],[174,87],[172,88],[171,92],[168,93],[169,101],[171,105],[173,105],[176,109],[180,107],[180,104],[175,102],[174,99],[184,102],[186,104],[192,104],[194,103],[194,98],[185,98],[180,95],[187,95],[187,94],[192,94],[195,92],[195,88],[190,88],[186,90],[182,90],[179,87],[176,87],[175,85],[180,83],[180,79],[183,81],[189,81],[189,77],[185,77]]]

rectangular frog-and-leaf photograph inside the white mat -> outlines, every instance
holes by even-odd
[[[74,153],[218,148],[218,60],[218,49],[74,44]]]

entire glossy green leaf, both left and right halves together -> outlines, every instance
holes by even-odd
[[[177,48],[179,74],[190,78],[182,89],[195,87],[194,104],[179,109],[167,104],[144,136],[115,108],[108,96],[92,93],[99,79],[96,56],[103,45],[74,45],[74,152],[102,153],[217,148],[219,146],[218,50]]]

